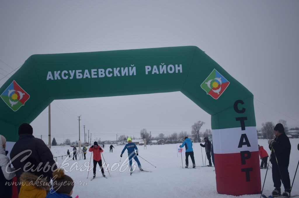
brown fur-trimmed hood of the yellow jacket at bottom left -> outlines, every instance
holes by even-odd
[[[20,177],[20,182],[22,182],[22,187],[26,189],[38,188],[45,191],[50,190],[49,183],[46,178],[39,178],[30,172],[23,172]]]

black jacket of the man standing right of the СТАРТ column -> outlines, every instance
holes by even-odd
[[[276,155],[278,165],[288,167],[290,162],[290,154],[291,154],[291,143],[288,136],[286,136],[286,133],[282,133],[280,136],[275,137],[274,140],[276,141],[276,143],[273,144],[273,150],[271,153],[270,162],[272,164],[277,164],[275,159],[275,155]],[[269,149],[271,150],[271,145],[269,145]]]

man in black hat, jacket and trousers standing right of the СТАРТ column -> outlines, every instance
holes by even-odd
[[[276,136],[275,139],[268,140],[269,149],[272,151],[270,162],[272,164],[272,179],[275,187],[275,189],[272,191],[272,195],[277,196],[281,194],[281,180],[284,186],[284,192],[282,195],[289,197],[291,192],[291,182],[288,167],[290,161],[291,143],[289,138],[286,136],[281,123],[278,123],[274,127],[274,133]]]

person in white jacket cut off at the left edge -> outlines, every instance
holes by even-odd
[[[0,197],[11,197],[12,195],[12,179],[16,176],[15,168],[11,168],[9,163],[9,158],[6,156],[8,151],[5,151],[6,138],[0,135]],[[10,185],[9,185],[10,184]]]

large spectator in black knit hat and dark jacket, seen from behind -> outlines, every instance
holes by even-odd
[[[33,129],[28,123],[23,123],[19,127],[19,140],[14,144],[10,152],[10,160],[13,164],[13,167],[16,168],[16,177],[17,183],[19,183],[19,178],[22,172],[28,171],[28,167],[25,167],[26,156],[36,159],[38,164],[41,164],[39,167],[39,175],[42,175],[42,178],[47,178],[47,181],[50,182],[52,177],[52,170],[57,168],[57,165],[54,161],[54,157],[45,144],[45,142],[39,138],[34,137]],[[28,156],[28,154],[31,154]],[[16,157],[17,156],[17,157]],[[20,191],[20,185],[18,185],[18,191]]]

